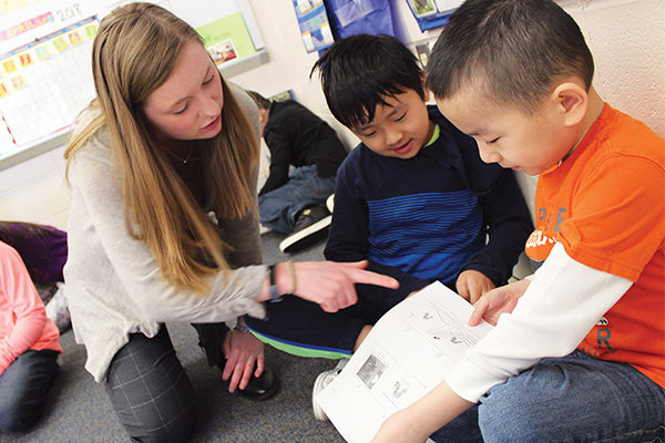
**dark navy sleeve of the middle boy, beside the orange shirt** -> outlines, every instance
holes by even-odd
[[[481,204],[490,239],[484,248],[471,256],[460,274],[477,270],[494,286],[501,286],[512,276],[533,224],[512,171],[501,172],[494,188],[481,197]]]

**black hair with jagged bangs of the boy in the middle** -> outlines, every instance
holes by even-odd
[[[386,97],[413,90],[424,100],[418,59],[390,35],[357,34],[339,40],[317,60],[328,107],[347,127],[374,120]]]

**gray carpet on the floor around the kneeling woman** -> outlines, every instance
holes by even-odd
[[[283,236],[264,234],[266,262],[319,260],[323,244],[285,256]],[[329,422],[314,419],[311,387],[316,377],[336,362],[303,359],[266,348],[266,362],[279,374],[282,389],[266,402],[232,395],[222,372],[208,367],[190,324],[168,324],[177,356],[196,391],[198,419],[193,443],[201,442],[344,442]],[[83,369],[85,350],[74,343],[71,330],[61,338],[61,372],[50,392],[42,420],[27,433],[0,434],[0,442],[126,442],[104,389]]]

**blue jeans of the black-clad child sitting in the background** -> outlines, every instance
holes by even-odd
[[[303,209],[324,205],[334,192],[335,177],[320,178],[314,165],[299,167],[285,185],[258,197],[260,223],[289,234]]]

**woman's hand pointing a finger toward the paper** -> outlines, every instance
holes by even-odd
[[[296,296],[318,303],[326,312],[337,312],[354,305],[358,300],[355,284],[377,285],[391,289],[399,287],[399,282],[392,277],[365,270],[367,260],[298,261],[293,266],[296,281],[290,281],[287,275],[285,277],[287,284],[283,287],[295,288],[293,292]]]

